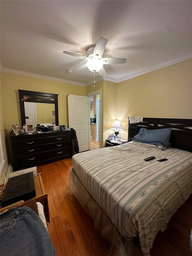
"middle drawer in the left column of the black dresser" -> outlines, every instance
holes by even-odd
[[[28,148],[13,149],[13,157],[31,155],[46,151],[46,145],[33,146]]]

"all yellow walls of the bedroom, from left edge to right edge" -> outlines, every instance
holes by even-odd
[[[86,95],[101,89],[102,146],[113,132],[110,127],[114,120],[122,122],[121,137],[126,140],[128,116],[192,119],[192,59],[120,83],[101,80],[95,88],[1,73],[0,129],[5,155],[11,152],[10,124],[21,127],[18,89],[58,94],[59,124],[64,125],[68,125],[67,94]],[[5,160],[4,168],[7,157]]]

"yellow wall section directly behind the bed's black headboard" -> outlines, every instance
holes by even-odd
[[[192,118],[192,59],[118,83],[117,119]],[[122,139],[128,132],[121,131]],[[123,135],[123,136],[122,136]]]

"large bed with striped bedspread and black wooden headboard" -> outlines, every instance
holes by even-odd
[[[141,130],[169,130],[168,143],[141,142]],[[129,123],[128,141],[74,155],[69,182],[117,253],[140,255],[139,239],[143,255],[149,256],[157,233],[192,193],[192,120],[143,118]],[[155,159],[144,161],[149,156]],[[168,161],[157,161],[162,158]]]

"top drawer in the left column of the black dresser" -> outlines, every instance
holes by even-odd
[[[25,148],[30,146],[38,146],[42,144],[46,144],[46,138],[13,141],[12,148],[20,149],[20,148]]]

